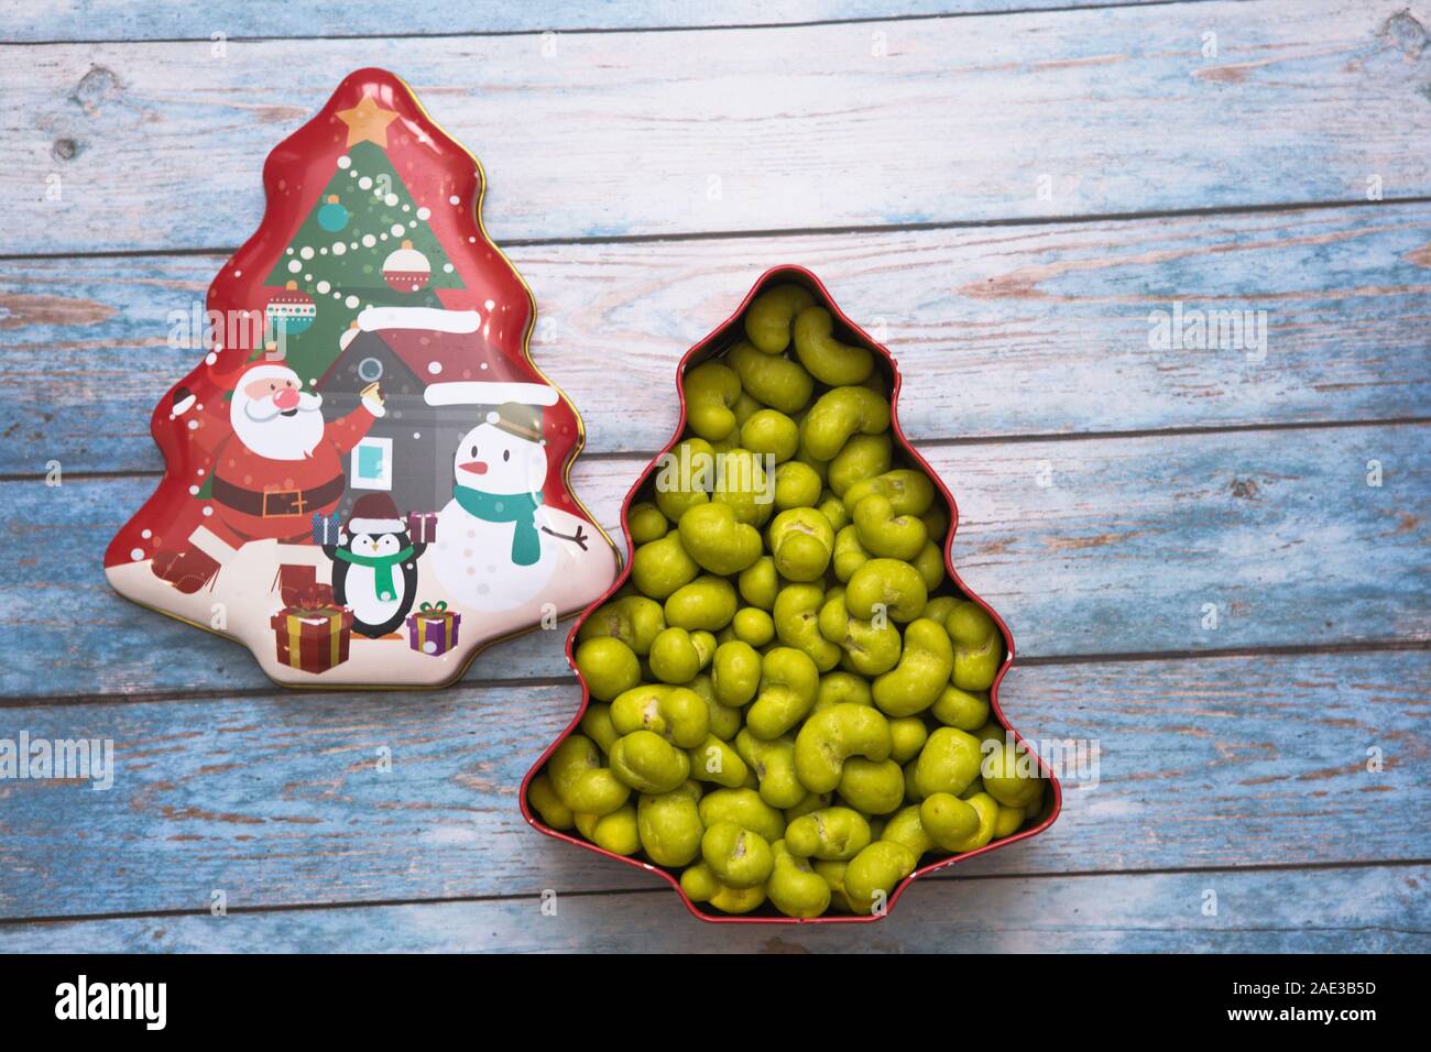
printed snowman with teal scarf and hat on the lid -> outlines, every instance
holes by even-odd
[[[521,607],[564,561],[591,550],[587,522],[542,504],[541,409],[507,402],[462,437],[452,500],[438,512],[428,561],[442,587],[479,611]]]

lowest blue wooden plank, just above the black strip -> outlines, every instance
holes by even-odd
[[[674,895],[6,925],[56,953],[1425,953],[1431,867],[929,880],[874,925],[705,925]],[[1208,892],[1216,915],[1206,916]]]

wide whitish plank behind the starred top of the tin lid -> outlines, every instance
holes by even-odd
[[[0,253],[238,243],[263,156],[361,64],[484,159],[501,242],[1431,193],[1431,47],[1402,0],[585,33],[551,57],[531,36],[11,46]]]

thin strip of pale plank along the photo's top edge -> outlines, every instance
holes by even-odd
[[[1119,0],[1135,4],[1149,0]],[[452,6],[398,9],[343,0],[193,4],[159,0],[77,0],[64,6],[0,6],[0,42],[210,40],[235,37],[456,36],[491,33],[601,31],[673,26],[767,26],[859,19],[924,19],[1043,7],[1109,6],[1108,0],[726,0],[720,4],[671,0],[468,0]]]

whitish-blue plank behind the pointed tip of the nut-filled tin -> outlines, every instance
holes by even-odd
[[[538,296],[532,356],[597,452],[665,444],[680,355],[784,262],[813,268],[899,358],[916,439],[1398,419],[1431,405],[1428,205],[512,256]],[[0,474],[50,459],[159,469],[149,414],[200,358],[169,318],[202,311],[220,263],[0,260]],[[1149,313],[1175,303],[1265,311],[1265,355],[1152,349]]]

